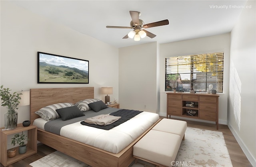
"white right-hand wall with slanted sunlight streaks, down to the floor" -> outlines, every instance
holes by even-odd
[[[231,32],[228,126],[256,167],[256,1],[248,1]]]

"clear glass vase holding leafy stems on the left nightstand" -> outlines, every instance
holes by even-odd
[[[17,127],[18,112],[8,108],[8,111],[4,114],[4,128],[6,130],[12,130]]]

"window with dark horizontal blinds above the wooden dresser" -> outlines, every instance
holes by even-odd
[[[224,52],[165,58],[165,91],[223,90]]]

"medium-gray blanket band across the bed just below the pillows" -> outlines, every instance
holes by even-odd
[[[73,118],[71,120],[63,121],[61,118],[59,118],[59,119],[56,119],[56,120],[46,122],[46,124],[44,125],[44,130],[47,131],[47,132],[51,132],[51,133],[60,135],[60,130],[63,126],[73,124],[73,123],[76,123],[76,122],[80,122],[80,121],[86,120],[87,118],[91,118],[91,117],[98,116],[98,115],[101,115],[101,114],[110,114],[110,113],[116,112],[118,110],[120,110],[120,109],[119,108],[108,107],[108,108],[105,108],[103,110],[100,110],[99,112],[94,112],[93,110],[83,112],[85,114],[85,116],[78,117],[78,118]]]

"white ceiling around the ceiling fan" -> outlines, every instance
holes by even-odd
[[[168,43],[205,37],[232,30],[247,0],[17,0],[22,6],[54,22],[64,24],[115,47],[142,43]],[[230,8],[230,5],[236,5]],[[226,7],[223,8],[223,7]],[[214,8],[215,7],[215,8]],[[219,7],[219,8],[217,8]],[[129,11],[141,12],[145,24],[169,20],[169,25],[148,28],[156,37],[140,41],[122,39],[132,29]]]

